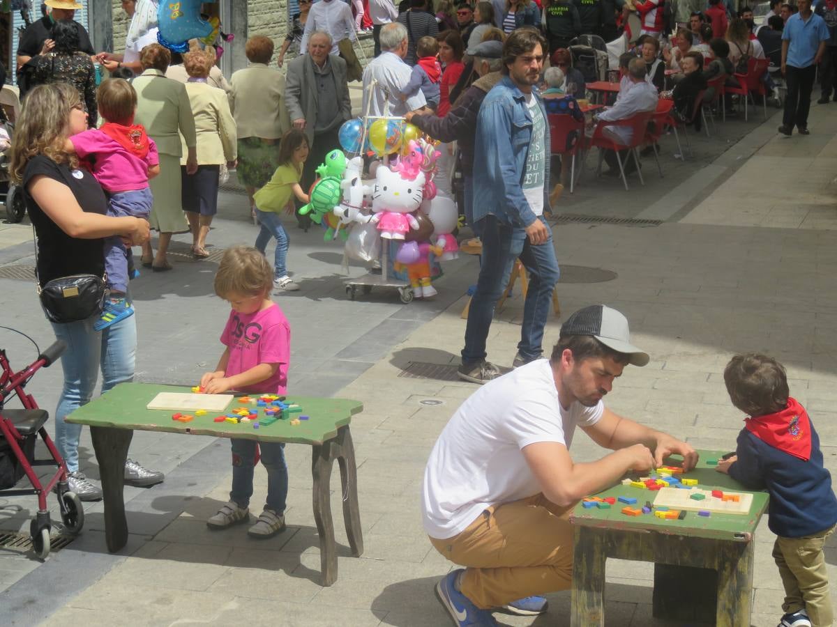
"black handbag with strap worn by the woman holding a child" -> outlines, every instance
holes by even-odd
[[[32,228],[34,243],[35,229]],[[38,246],[35,245],[35,278],[38,278]],[[67,324],[86,320],[101,314],[105,307],[107,275],[72,274],[69,277],[54,278],[44,287],[38,279],[38,298],[50,322]]]

